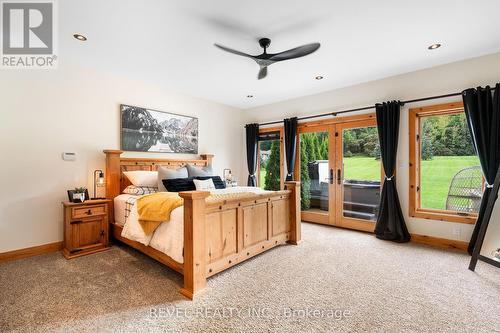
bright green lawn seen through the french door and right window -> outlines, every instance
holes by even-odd
[[[461,169],[479,165],[476,156],[435,156],[422,161],[422,208],[445,209],[453,176]],[[380,161],[372,157],[344,158],[344,178],[379,180]]]

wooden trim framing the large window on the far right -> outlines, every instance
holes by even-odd
[[[417,186],[420,184],[420,144],[417,135],[420,135],[420,119],[426,116],[442,116],[464,112],[462,102],[445,103],[426,107],[412,108],[409,111],[409,176],[410,176],[410,216],[428,220],[447,222],[458,222],[475,224],[477,214],[471,213],[461,215],[453,211],[438,210],[420,207],[420,192]]]

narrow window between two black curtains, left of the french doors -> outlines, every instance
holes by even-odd
[[[269,191],[283,188],[283,130],[261,129],[259,132],[259,154],[257,185]]]

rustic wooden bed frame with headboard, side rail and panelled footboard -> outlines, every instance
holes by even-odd
[[[113,200],[130,185],[123,171],[156,170],[159,165],[179,168],[207,166],[213,155],[197,160],[123,158],[121,150],[105,150],[106,197]],[[184,275],[181,293],[193,299],[206,287],[208,277],[275,246],[297,245],[300,230],[300,187],[285,182],[285,190],[245,198],[205,201],[209,192],[180,192],[184,199],[184,263],[152,247],[121,236],[111,205],[111,234],[121,241]]]

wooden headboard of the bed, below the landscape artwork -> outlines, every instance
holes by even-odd
[[[120,157],[122,150],[105,150],[106,154],[106,198],[113,199],[130,185],[130,181],[123,175],[123,171],[145,170],[155,171],[158,166],[177,169],[186,164],[208,166],[212,164],[214,155],[202,154],[197,160],[154,159],[154,158],[129,158]]]

